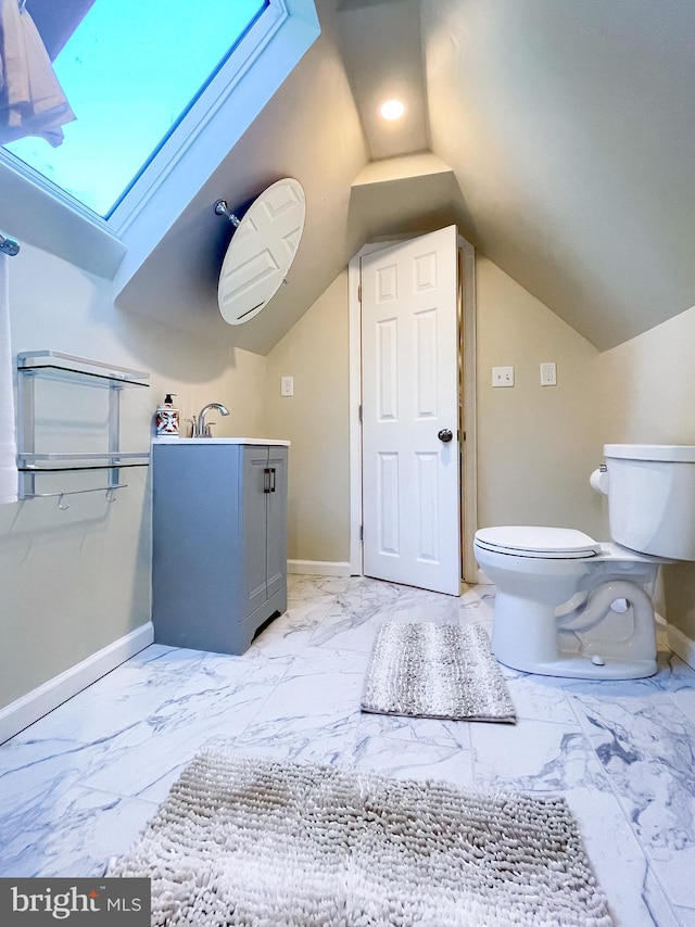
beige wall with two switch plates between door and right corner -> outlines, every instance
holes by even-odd
[[[477,261],[478,523],[605,530],[589,485],[601,462],[599,354],[491,261]],[[557,365],[542,386],[540,365]],[[492,388],[492,367],[515,368]]]

